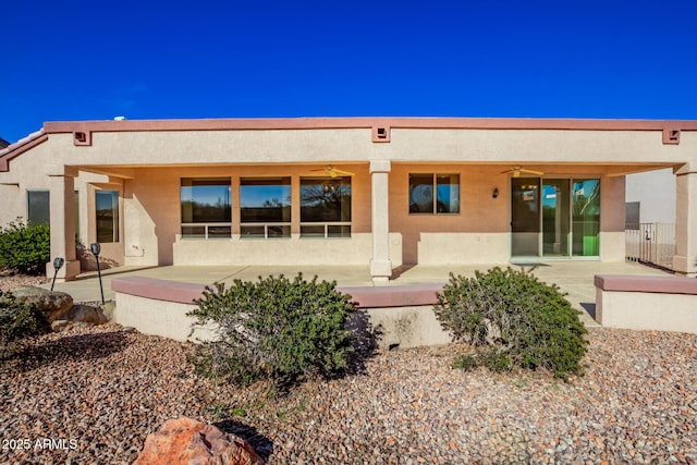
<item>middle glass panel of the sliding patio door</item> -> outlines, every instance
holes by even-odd
[[[568,256],[568,180],[542,181],[542,255]]]

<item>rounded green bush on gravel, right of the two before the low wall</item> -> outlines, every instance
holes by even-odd
[[[563,379],[582,374],[586,328],[559,287],[531,272],[497,267],[476,271],[475,278],[451,273],[433,311],[453,340],[477,350],[475,356],[456,358],[456,367],[543,367]]]

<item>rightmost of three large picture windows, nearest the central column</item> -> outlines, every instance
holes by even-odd
[[[351,178],[301,179],[301,236],[351,236]]]

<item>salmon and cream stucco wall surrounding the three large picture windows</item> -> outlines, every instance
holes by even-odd
[[[242,178],[279,178],[292,180],[292,233],[299,233],[299,180],[322,176],[323,164],[318,166],[225,166],[191,168],[143,168],[133,170],[133,179],[124,183],[124,250],[126,265],[184,265],[267,262],[276,258],[292,262],[323,264],[335,261],[335,255],[318,254],[313,248],[291,246],[286,240],[241,240],[239,186]],[[350,253],[359,244],[370,252],[370,242],[362,234],[370,233],[370,174],[367,163],[337,166],[355,173],[352,183],[352,233],[355,241],[343,238],[304,240],[325,243],[328,250],[345,247]],[[319,171],[315,171],[319,170]],[[182,178],[230,178],[232,185],[233,237],[230,240],[182,240],[180,186]],[[343,245],[342,245],[343,241]],[[346,243],[348,241],[348,243]],[[224,244],[225,242],[230,244]],[[285,243],[285,247],[280,244]],[[176,250],[176,252],[175,252]],[[253,254],[254,250],[259,255]],[[281,254],[281,255],[279,255]],[[308,255],[307,255],[308,254]],[[360,254],[364,255],[364,254]],[[363,260],[363,258],[362,258]],[[401,261],[401,259],[400,259]]]

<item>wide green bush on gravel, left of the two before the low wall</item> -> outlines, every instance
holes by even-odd
[[[346,321],[356,313],[335,282],[259,278],[207,286],[196,325],[215,323],[218,340],[200,344],[192,362],[199,375],[248,384],[272,380],[288,387],[303,377],[331,377],[347,368],[353,335]]]

